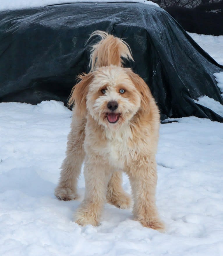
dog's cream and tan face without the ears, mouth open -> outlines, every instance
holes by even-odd
[[[140,93],[125,69],[109,66],[94,72],[86,96],[86,108],[98,124],[110,130],[120,128],[137,113],[140,102]]]

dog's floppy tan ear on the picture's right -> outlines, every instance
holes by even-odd
[[[150,89],[144,80],[131,69],[127,69],[127,74],[132,80],[135,88],[139,91],[141,97],[141,112],[143,114],[148,114],[150,112],[151,101],[153,100]]]

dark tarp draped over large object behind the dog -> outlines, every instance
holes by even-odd
[[[162,119],[198,116],[223,122],[196,104],[223,100],[213,73],[223,71],[162,8],[139,3],[81,3],[0,12],[0,101],[67,102],[76,76],[88,72],[95,30],[123,38],[126,62],[150,87]]]

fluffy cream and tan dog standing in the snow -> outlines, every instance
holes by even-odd
[[[75,222],[96,226],[106,201],[118,208],[131,205],[122,188],[124,171],[132,187],[135,220],[162,231],[155,204],[159,110],[143,79],[122,67],[122,58],[132,60],[128,45],[106,32],[93,35],[102,40],[92,48],[91,72],[79,76],[71,92],[69,103],[75,107],[55,195],[65,201],[77,198],[84,161],[86,190]]]

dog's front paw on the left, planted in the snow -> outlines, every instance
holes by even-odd
[[[99,225],[99,222],[96,220],[95,214],[93,214],[92,211],[82,209],[77,210],[74,215],[74,221],[81,226],[86,226],[88,224],[93,226]]]

